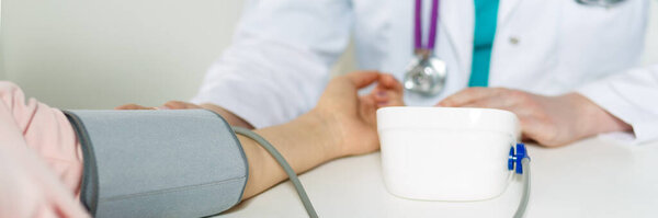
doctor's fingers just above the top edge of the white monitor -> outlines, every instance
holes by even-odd
[[[468,88],[445,97],[443,101],[439,102],[436,106],[463,106],[481,99],[502,95],[503,93],[511,91],[512,90],[504,88]]]

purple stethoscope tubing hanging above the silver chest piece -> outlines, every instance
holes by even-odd
[[[416,0],[416,16],[413,26],[413,43],[416,50],[433,50],[436,38],[436,23],[439,22],[439,0],[432,0],[432,11],[430,16],[430,35],[427,46],[422,45],[422,0]]]

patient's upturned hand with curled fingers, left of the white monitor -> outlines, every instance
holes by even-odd
[[[366,95],[358,91],[370,84],[377,87]],[[379,148],[376,110],[404,106],[402,85],[390,74],[376,71],[352,72],[329,82],[318,105],[309,114],[320,114],[329,123],[338,157],[363,154]]]

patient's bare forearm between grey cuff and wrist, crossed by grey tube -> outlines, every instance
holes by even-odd
[[[308,113],[291,123],[258,129],[257,134],[272,144],[296,173],[303,173],[340,157],[329,124]],[[256,141],[238,135],[249,162],[249,180],[242,199],[254,196],[287,179],[272,156]]]

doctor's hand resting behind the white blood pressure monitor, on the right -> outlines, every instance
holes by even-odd
[[[510,111],[519,117],[523,137],[547,147],[631,126],[578,93],[544,96],[504,88],[468,88],[438,106],[484,107]]]

